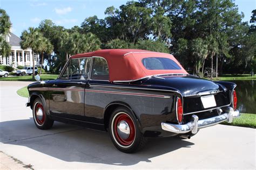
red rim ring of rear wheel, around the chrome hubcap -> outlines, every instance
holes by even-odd
[[[124,121],[129,125],[129,129],[130,129],[130,134],[126,139],[123,139],[122,137],[119,136],[118,134],[118,124]],[[114,137],[116,138],[116,140],[118,141],[118,143],[120,145],[123,146],[129,146],[133,143],[134,139],[135,139],[135,126],[134,123],[131,119],[130,116],[126,115],[126,114],[119,114],[114,118],[114,122],[113,122],[113,130],[114,130]]]

